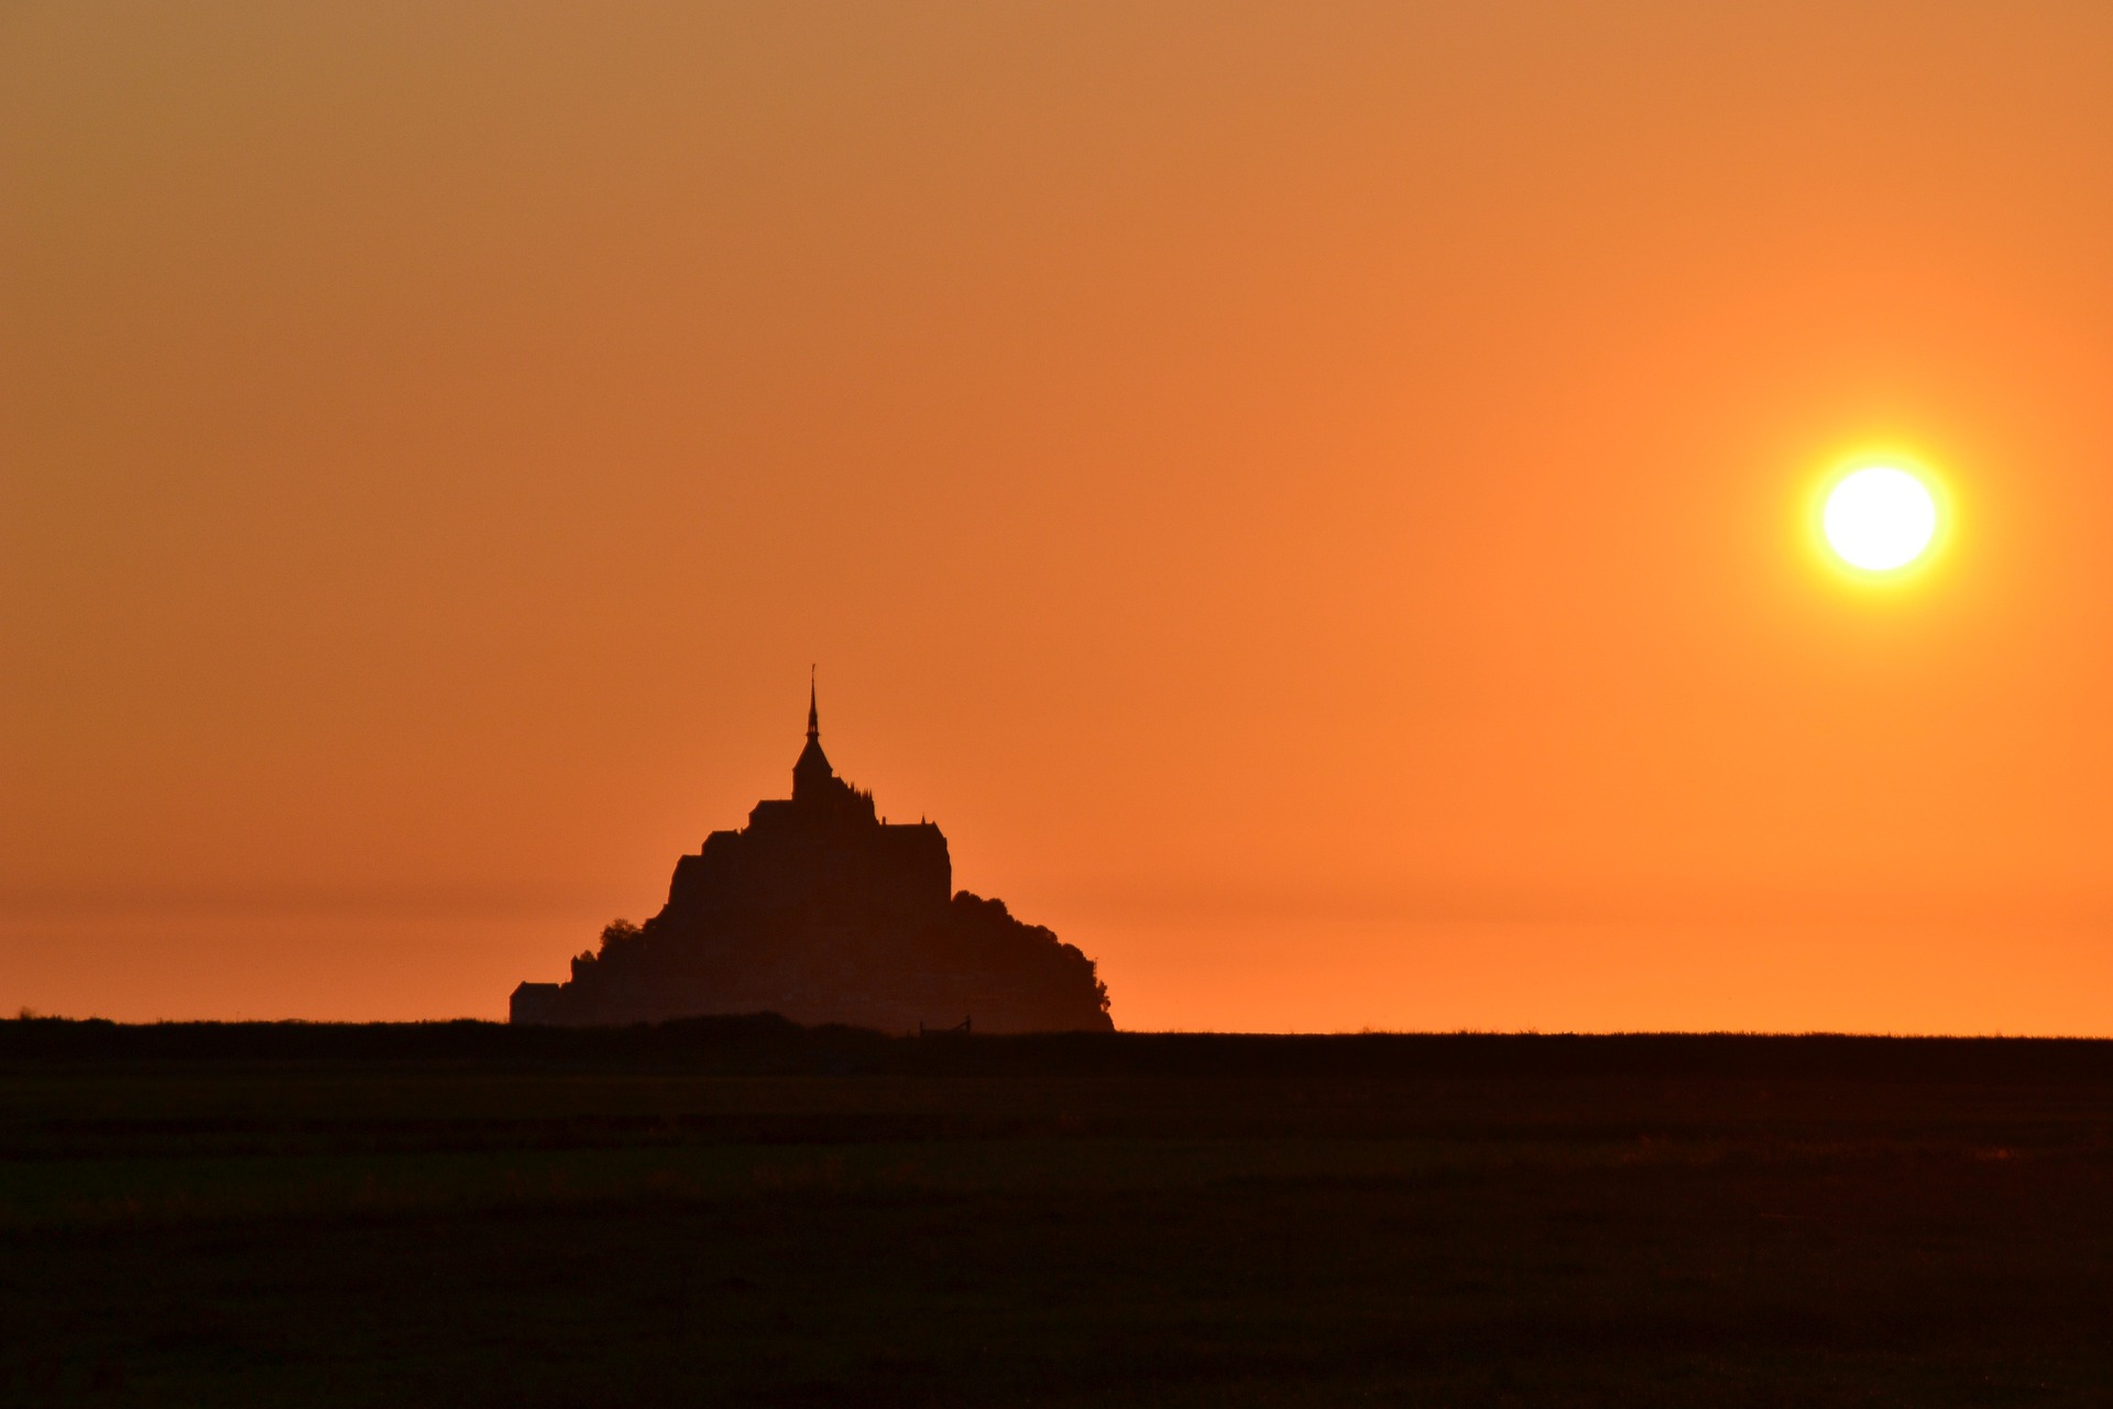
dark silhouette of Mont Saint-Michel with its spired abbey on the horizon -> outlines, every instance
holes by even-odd
[[[617,921],[562,984],[524,982],[513,1022],[659,1022],[775,1012],[881,1031],[1109,1031],[1092,959],[1002,900],[953,889],[934,822],[881,822],[873,794],[822,752],[807,689],[807,748],[792,796],[712,832],[674,866],[668,904]]]

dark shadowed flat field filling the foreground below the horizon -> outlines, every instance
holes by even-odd
[[[2113,1048],[0,1022],[0,1394],[2109,1405]]]

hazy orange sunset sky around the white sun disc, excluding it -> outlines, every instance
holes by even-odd
[[[2113,8],[0,4],[0,1006],[824,741],[1124,1027],[2113,1033]],[[1800,507],[1940,467],[1910,589]]]

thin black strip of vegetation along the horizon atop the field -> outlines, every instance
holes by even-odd
[[[8,1063],[556,1063],[725,1075],[1728,1077],[2113,1084],[2113,1039],[1747,1033],[1040,1033],[890,1037],[775,1014],[634,1027],[0,1020]]]

